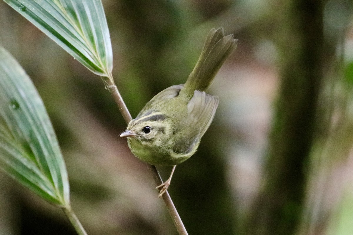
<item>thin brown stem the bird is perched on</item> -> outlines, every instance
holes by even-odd
[[[132,120],[132,117],[131,117],[131,114],[128,111],[128,109],[124,103],[124,100],[122,100],[122,97],[118,91],[118,88],[116,87],[116,85],[114,83],[113,78],[112,77],[111,78],[102,77],[102,79],[103,79],[103,82],[104,82],[106,88],[109,90],[110,94],[113,95],[115,103],[118,105],[119,110],[121,112],[121,115],[124,118],[126,124],[128,124]],[[163,180],[162,180],[160,174],[158,173],[156,167],[153,165],[149,165],[149,164],[148,164],[148,166],[152,172],[152,176],[153,176],[154,181],[156,182],[156,185],[158,186],[158,185],[162,184]],[[175,225],[175,228],[177,228],[179,235],[188,235],[187,231],[184,227],[183,221],[181,221],[181,218],[178,214],[178,211],[175,208],[174,203],[172,201],[172,198],[170,198],[168,191],[166,191],[163,194],[162,198],[163,198],[164,204],[166,204],[166,206],[167,206],[167,210],[169,212],[170,217],[172,217],[172,219],[173,219],[173,223]]]

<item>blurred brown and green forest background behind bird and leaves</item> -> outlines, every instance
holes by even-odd
[[[113,76],[132,116],[185,82],[208,31],[239,38],[209,93],[215,120],[169,193],[190,235],[353,234],[350,0],[103,0]],[[0,1],[0,44],[34,81],[90,235],[175,235],[101,79]],[[158,168],[166,179],[170,168]],[[75,234],[0,174],[0,234]]]

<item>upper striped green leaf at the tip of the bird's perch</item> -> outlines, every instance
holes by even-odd
[[[112,44],[101,0],[4,0],[93,73],[111,77]]]

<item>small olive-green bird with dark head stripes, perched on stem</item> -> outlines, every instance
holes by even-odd
[[[174,166],[168,180],[156,187],[160,189],[159,197],[169,187],[175,167],[196,152],[210,126],[218,97],[204,91],[236,47],[233,35],[225,36],[223,28],[211,29],[185,84],[158,93],[120,135],[127,137],[138,159],[155,166]]]

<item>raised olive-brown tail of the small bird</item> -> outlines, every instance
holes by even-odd
[[[233,35],[224,36],[222,27],[211,29],[196,66],[181,89],[180,95],[191,98],[195,90],[205,91],[211,85],[223,62],[237,48],[237,41],[238,39],[233,39]]]

